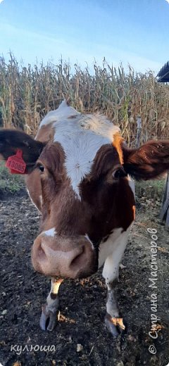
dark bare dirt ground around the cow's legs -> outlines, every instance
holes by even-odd
[[[15,196],[1,194],[1,365],[168,365],[169,237],[158,221],[159,206],[145,199],[138,206],[117,291],[127,332],[113,339],[104,325],[106,286],[101,270],[89,279],[63,282],[56,328],[53,332],[39,328],[41,307],[50,289],[50,279],[36,273],[30,261],[39,214],[24,190]],[[156,228],[158,235],[157,290],[149,288],[152,239],[147,227]],[[156,313],[151,310],[154,293]],[[149,336],[151,313],[158,317],[157,339]],[[151,345],[156,354],[149,352]],[[46,351],[40,351],[40,346],[46,346]]]

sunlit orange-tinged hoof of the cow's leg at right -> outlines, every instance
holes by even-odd
[[[114,338],[117,338],[119,334],[125,331],[122,317],[111,317],[111,315],[106,314],[105,323],[108,331],[111,332]]]

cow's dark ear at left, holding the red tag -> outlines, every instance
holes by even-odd
[[[19,150],[23,153],[26,172],[30,172],[44,148],[41,141],[32,139],[28,134],[18,130],[0,130],[0,160],[7,160]]]

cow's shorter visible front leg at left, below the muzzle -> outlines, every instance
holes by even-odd
[[[42,330],[52,331],[57,322],[58,313],[58,289],[63,279],[51,279],[51,291],[46,298],[46,304],[42,306],[42,315],[40,317],[40,327]]]

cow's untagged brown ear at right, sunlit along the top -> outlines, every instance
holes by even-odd
[[[154,179],[169,170],[169,140],[149,141],[138,149],[123,146],[125,172],[134,179]]]

